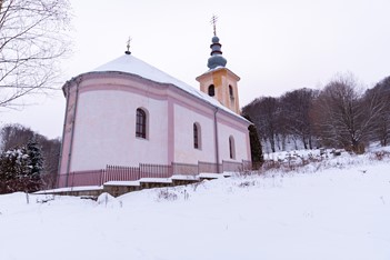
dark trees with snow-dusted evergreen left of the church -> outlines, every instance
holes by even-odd
[[[33,192],[56,184],[61,142],[20,124],[0,131],[0,193]]]

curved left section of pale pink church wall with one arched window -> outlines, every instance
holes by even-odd
[[[136,138],[136,111],[149,116],[148,138]],[[71,171],[107,164],[167,164],[167,102],[121,90],[80,93]]]

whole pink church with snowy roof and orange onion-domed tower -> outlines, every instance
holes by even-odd
[[[238,81],[216,32],[200,90],[136,58],[123,56],[67,81],[59,177],[107,166],[250,161]],[[180,172],[176,172],[179,173]],[[59,187],[69,186],[68,181]]]

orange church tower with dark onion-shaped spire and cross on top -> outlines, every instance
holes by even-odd
[[[214,36],[211,39],[211,57],[208,60],[209,70],[199,76],[197,81],[200,83],[200,91],[217,99],[228,109],[240,113],[237,82],[240,78],[226,68],[227,60],[222,56],[219,38],[216,32],[217,17],[211,19],[214,29]]]

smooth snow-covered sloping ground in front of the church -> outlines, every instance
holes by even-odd
[[[372,157],[98,201],[0,196],[0,259],[389,260],[390,158]]]

